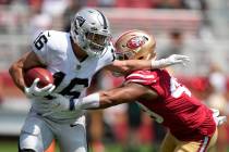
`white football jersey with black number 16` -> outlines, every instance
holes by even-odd
[[[34,40],[32,48],[52,73],[57,87],[55,93],[60,93],[67,98],[85,96],[93,75],[114,60],[113,47],[110,43],[105,48],[106,51],[100,58],[87,56],[83,62],[80,62],[73,52],[70,34],[63,31],[47,30],[41,33]],[[58,99],[51,97],[33,99],[32,110],[39,114],[52,112],[55,109],[50,109],[48,103],[53,100]],[[71,122],[83,114],[83,110],[65,111],[53,112],[47,117],[58,122]]]

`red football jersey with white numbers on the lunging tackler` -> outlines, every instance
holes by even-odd
[[[129,81],[148,86],[157,92],[157,99],[137,103],[179,140],[202,140],[214,134],[213,112],[166,69],[136,71],[125,77],[125,83]]]

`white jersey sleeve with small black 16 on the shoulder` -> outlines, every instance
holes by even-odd
[[[43,31],[35,39],[33,39],[32,49],[38,55],[41,63],[47,65],[49,62],[50,50],[53,49],[50,39],[50,31]]]

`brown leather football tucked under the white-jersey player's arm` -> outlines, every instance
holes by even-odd
[[[27,87],[31,87],[36,78],[39,78],[38,88],[46,87],[48,84],[53,84],[51,73],[43,67],[34,67],[25,72],[24,80]]]

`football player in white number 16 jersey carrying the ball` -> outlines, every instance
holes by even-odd
[[[158,68],[184,63],[184,55],[158,61],[118,61],[113,53],[107,17],[95,9],[80,10],[71,31],[47,30],[32,43],[32,51],[13,63],[9,69],[15,85],[32,100],[32,107],[20,135],[20,152],[43,152],[56,138],[61,152],[86,152],[85,111],[55,111],[52,94],[77,99],[85,94],[93,75],[106,67],[122,74],[140,68]],[[136,39],[134,46],[147,39]],[[133,43],[133,42],[132,42]],[[134,47],[133,46],[133,47]],[[154,46],[152,46],[154,48]],[[41,66],[50,71],[55,84],[38,88],[24,83],[24,72]]]

